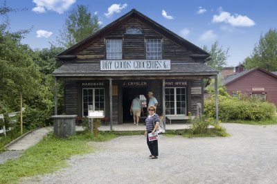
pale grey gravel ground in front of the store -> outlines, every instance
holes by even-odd
[[[95,153],[21,183],[277,183],[277,125],[222,125],[231,136],[162,136],[154,160],[144,136],[93,142]]]

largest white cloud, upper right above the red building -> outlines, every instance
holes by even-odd
[[[251,27],[255,25],[255,22],[247,16],[231,15],[230,12],[224,12],[220,10],[220,15],[213,15],[213,23],[230,24],[231,26]]]

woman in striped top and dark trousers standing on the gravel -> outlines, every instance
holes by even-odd
[[[150,105],[150,107],[148,107],[148,112],[149,112],[149,115],[145,119],[146,130],[145,130],[144,136],[146,137],[147,145],[151,153],[149,158],[155,159],[155,158],[158,158],[159,156],[158,140],[149,141],[148,134],[150,133],[154,134],[154,132],[158,129],[159,115],[156,113],[156,107],[154,107],[154,105]]]

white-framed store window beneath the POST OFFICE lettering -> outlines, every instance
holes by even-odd
[[[186,115],[186,88],[166,88],[166,114]]]

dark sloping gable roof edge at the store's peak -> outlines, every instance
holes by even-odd
[[[207,57],[210,56],[208,53],[206,53],[206,51],[202,50],[202,48],[199,48],[198,46],[195,46],[195,44],[188,42],[186,39],[180,37],[179,35],[173,33],[172,31],[168,30],[167,28],[161,26],[156,21],[153,21],[149,17],[146,17],[141,12],[139,12],[135,9],[132,9],[131,11],[127,12],[122,17],[111,22],[104,28],[98,30],[96,33],[93,33],[93,35],[87,37],[86,39],[83,39],[81,42],[78,42],[77,44],[71,46],[70,48],[67,48],[62,53],[57,55],[57,57],[61,58],[64,55],[72,55],[74,50],[78,50],[78,48],[82,47],[84,44],[91,42],[93,39],[96,39],[97,37],[105,36],[107,33],[109,33],[114,28],[125,23],[125,21],[132,19],[132,17],[136,17],[136,18],[140,19],[141,21],[143,21],[143,23],[147,24],[148,26],[151,26],[154,30],[161,33],[165,37],[170,37],[170,39],[172,39],[172,41],[174,41],[175,43],[177,43],[181,46],[186,46],[190,50],[193,50],[196,54],[191,55],[191,57],[206,59]]]

